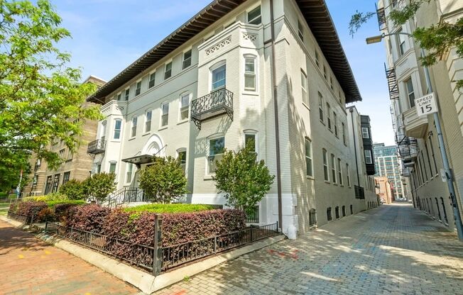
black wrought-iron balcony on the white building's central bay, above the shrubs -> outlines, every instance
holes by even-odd
[[[201,130],[202,121],[227,113],[233,121],[233,92],[222,88],[191,103],[191,120]]]

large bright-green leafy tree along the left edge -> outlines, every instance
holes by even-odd
[[[75,151],[85,120],[100,118],[85,106],[96,86],[81,84],[80,69],[67,67],[70,55],[56,47],[70,33],[48,0],[34,2],[0,0],[0,167],[17,175],[31,152],[58,167],[45,147],[62,141]]]

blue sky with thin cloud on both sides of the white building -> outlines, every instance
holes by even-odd
[[[72,67],[109,81],[138,57],[195,15],[211,0],[51,0],[72,38],[58,46],[72,55]],[[356,108],[371,118],[376,143],[394,145],[383,43],[366,45],[379,35],[376,18],[352,38],[348,24],[356,10],[374,11],[372,0],[326,0],[363,101]]]

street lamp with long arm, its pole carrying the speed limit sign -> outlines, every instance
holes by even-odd
[[[390,35],[407,35],[410,38],[413,38],[413,35],[409,33],[391,33],[391,34],[385,34],[382,33],[381,35],[377,35],[374,37],[366,38],[366,44],[372,44],[372,43],[378,43],[381,42],[381,40]],[[420,48],[421,50],[421,56],[425,56],[425,50],[423,48]],[[423,66],[424,72],[425,72],[425,80],[426,80],[426,86],[427,89],[429,89],[429,93],[432,93],[432,84],[431,84],[431,78],[429,74],[429,69],[427,67]],[[436,94],[437,97],[437,94]],[[442,128],[440,126],[440,118],[439,114],[433,113],[434,116],[434,122],[435,122],[435,128],[437,131],[437,140],[439,140],[439,149],[440,149],[440,155],[442,156],[442,165],[444,166],[445,170],[445,179],[447,181],[447,187],[450,192],[450,199],[452,200],[452,208],[453,208],[453,215],[455,219],[455,226],[457,227],[457,233],[458,233],[458,239],[460,242],[463,242],[463,224],[462,224],[462,218],[459,213],[459,207],[458,207],[458,201],[457,201],[457,193],[455,192],[455,188],[453,185],[453,174],[452,174],[452,169],[450,169],[450,163],[449,159],[447,157],[447,150],[445,149],[445,143],[444,143],[444,137],[442,136]]]

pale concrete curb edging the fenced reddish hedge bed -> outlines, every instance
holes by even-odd
[[[0,220],[10,223],[12,226],[21,228],[22,230],[31,228],[30,226],[23,226],[23,223],[6,218],[6,216],[0,216]],[[246,245],[244,247],[240,247],[238,249],[231,250],[214,257],[209,257],[205,260],[195,262],[192,265],[180,267],[178,269],[174,269],[173,271],[165,272],[163,274],[159,274],[157,277],[154,277],[152,274],[148,274],[147,272],[143,272],[139,269],[126,265],[123,262],[114,260],[113,258],[103,255],[97,251],[89,250],[86,247],[81,247],[80,245],[71,243],[61,238],[57,238],[53,235],[48,235],[47,233],[38,233],[36,234],[36,237],[40,238],[40,240],[43,240],[46,243],[65,250],[66,252],[69,252],[70,254],[85,260],[86,262],[89,262],[91,265],[103,269],[105,272],[114,275],[114,277],[117,277],[124,282],[136,286],[136,288],[140,289],[146,294],[152,294],[153,292],[163,289],[166,286],[170,286],[171,284],[182,281],[185,277],[191,277],[195,274],[199,274],[200,272],[204,272],[205,270],[215,267],[223,262],[234,260],[241,255],[260,250],[263,247],[267,247],[274,243],[278,243],[280,240],[285,238],[284,235],[278,235],[273,238],[266,238],[251,245]]]

